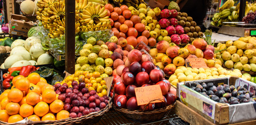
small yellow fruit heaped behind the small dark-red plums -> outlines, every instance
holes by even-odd
[[[73,81],[77,81],[78,84],[80,82],[84,82],[86,83],[86,88],[88,88],[89,92],[91,90],[95,90],[100,97],[103,97],[104,95],[107,95],[106,90],[108,90],[106,81],[103,80],[106,77],[109,76],[102,75],[98,71],[90,73],[89,71],[78,70],[75,71],[71,76],[65,78],[62,82],[56,82],[55,84],[60,83],[62,85],[63,83],[67,83],[68,86],[72,88],[71,84]]]

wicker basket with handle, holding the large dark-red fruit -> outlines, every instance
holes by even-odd
[[[164,99],[156,99],[156,100],[165,102]],[[154,102],[156,100],[153,100],[151,102]],[[150,103],[148,103],[148,104],[150,104]],[[146,104],[146,106],[148,104]],[[129,110],[129,109],[124,109],[124,108],[118,108],[115,105],[113,105],[113,108],[116,111],[119,111],[122,115],[124,115],[127,118],[131,118],[134,120],[140,120],[140,121],[155,121],[155,120],[159,120],[159,119],[166,117],[167,114],[169,113],[170,109],[172,109],[175,106],[175,104],[176,103],[174,103],[173,105],[165,106],[164,108],[155,109],[153,111]],[[165,102],[165,105],[166,105],[166,102]]]

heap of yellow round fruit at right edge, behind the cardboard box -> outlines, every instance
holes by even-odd
[[[226,68],[256,71],[256,37],[240,37],[237,41],[227,41],[216,48],[216,53]],[[250,81],[250,80],[249,80]]]

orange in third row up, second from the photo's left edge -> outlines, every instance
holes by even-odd
[[[18,103],[23,98],[23,92],[20,91],[19,89],[14,88],[9,91],[7,97],[10,102]]]

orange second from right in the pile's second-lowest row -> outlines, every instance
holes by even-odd
[[[34,107],[34,113],[39,117],[46,115],[48,111],[49,111],[49,106],[46,102],[39,102]]]

